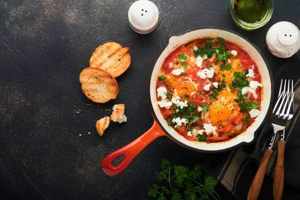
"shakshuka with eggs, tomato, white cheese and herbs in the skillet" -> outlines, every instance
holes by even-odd
[[[172,51],[160,68],[156,91],[164,119],[188,140],[230,139],[260,113],[257,65],[222,37],[198,38]]]

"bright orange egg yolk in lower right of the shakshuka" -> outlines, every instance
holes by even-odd
[[[230,116],[228,107],[220,102],[215,102],[210,106],[209,118],[212,123],[220,124],[227,120]]]

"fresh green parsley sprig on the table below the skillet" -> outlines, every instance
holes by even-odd
[[[161,170],[156,175],[160,183],[166,184],[152,184],[149,188],[148,195],[155,199],[220,199],[214,190],[217,180],[209,174],[202,176],[199,164],[189,170],[185,166],[171,165],[170,161],[162,159]]]

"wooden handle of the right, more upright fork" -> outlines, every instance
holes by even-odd
[[[281,199],[284,185],[284,148],[285,141],[278,141],[278,154],[273,180],[273,197],[275,200]]]

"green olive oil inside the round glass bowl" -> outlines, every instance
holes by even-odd
[[[267,6],[265,0],[236,0],[234,11],[239,19],[256,23],[264,17]]]

